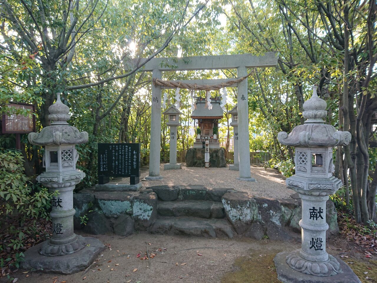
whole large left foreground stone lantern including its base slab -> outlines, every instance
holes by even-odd
[[[103,249],[103,244],[94,238],[84,238],[74,233],[73,190],[75,185],[85,177],[85,173],[76,169],[78,153],[75,145],[88,141],[87,132],[79,132],[70,126],[69,108],[60,100],[49,107],[51,126],[44,127],[40,133],[30,133],[29,142],[44,146],[43,166],[46,172],[37,177],[37,181],[57,192],[52,197],[52,237],[34,246],[25,253],[23,268],[54,271],[69,274],[84,268],[91,263],[92,257]],[[33,254],[37,248],[39,257]],[[35,251],[36,253],[36,251]],[[74,254],[74,257],[66,257]],[[48,258],[61,256],[61,265],[51,266]],[[80,264],[72,262],[72,258],[80,260]],[[79,268],[79,269],[78,269]],[[72,272],[71,272],[72,271]]]

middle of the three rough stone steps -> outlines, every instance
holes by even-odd
[[[157,211],[161,216],[225,217],[222,203],[208,200],[158,201]]]

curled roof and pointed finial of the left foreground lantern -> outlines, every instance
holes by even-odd
[[[51,125],[44,127],[40,133],[30,133],[28,140],[33,145],[77,145],[86,143],[89,139],[87,132],[80,132],[68,124],[70,118],[69,107],[60,100],[57,94],[56,102],[49,107]]]

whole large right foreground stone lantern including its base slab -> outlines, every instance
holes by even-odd
[[[286,132],[277,135],[280,143],[296,149],[296,174],[287,178],[286,183],[302,200],[301,249],[276,255],[278,279],[307,283],[359,282],[357,277],[354,281],[347,274],[351,269],[343,261],[326,252],[326,201],[342,186],[342,181],[333,176],[333,147],[348,145],[351,134],[325,124],[322,118],[327,115],[326,102],[317,96],[316,86],[303,109],[302,115],[307,118],[304,125],[294,127],[289,135]],[[347,280],[345,274],[349,276]],[[329,276],[331,279],[318,278]]]

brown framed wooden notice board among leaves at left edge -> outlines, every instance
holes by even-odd
[[[11,114],[2,116],[2,133],[3,134],[27,134],[35,132],[35,107],[26,103],[11,103],[9,107],[30,109],[31,112],[25,116],[22,114]]]

